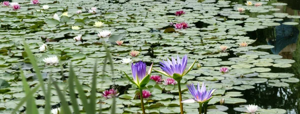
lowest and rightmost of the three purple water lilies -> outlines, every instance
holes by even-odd
[[[212,99],[212,94],[215,91],[215,89],[211,89],[209,91],[206,90],[206,85],[204,83],[202,84],[202,87],[200,89],[199,83],[197,85],[197,90],[194,87],[193,84],[187,85],[187,88],[189,90],[189,93],[193,96],[192,99],[187,99],[182,101],[181,103],[207,103],[210,99]]]

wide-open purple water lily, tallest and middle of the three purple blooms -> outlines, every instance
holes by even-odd
[[[162,71],[155,70],[155,69],[153,70],[165,76],[172,77],[177,82],[178,80],[181,80],[182,76],[186,75],[192,69],[193,65],[196,62],[195,60],[192,63],[192,65],[187,70],[185,70],[187,64],[187,55],[184,55],[181,61],[178,55],[177,55],[177,60],[174,59],[173,57],[171,57],[171,60],[172,61],[167,59],[167,61],[162,60],[163,62],[160,62],[160,68],[162,69]]]

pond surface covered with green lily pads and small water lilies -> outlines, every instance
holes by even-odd
[[[216,89],[207,114],[247,114],[245,106],[250,104],[259,107],[256,114],[300,114],[300,1],[260,0],[252,5],[244,0],[13,2],[20,4],[19,9],[0,6],[1,114],[10,114],[26,95],[19,68],[31,89],[39,84],[23,41],[35,56],[44,85],[51,76],[67,101],[70,97],[64,89],[70,63],[89,98],[97,60],[96,98],[102,100],[98,104],[103,114],[109,113],[111,105],[111,99],[103,97],[109,89],[119,92],[116,114],[141,113],[138,89],[124,75],[131,76],[128,63],[143,61],[147,68],[153,63],[153,69],[160,70],[159,62],[177,55],[187,55],[187,66],[196,60],[181,81],[183,100],[191,98],[186,84],[199,82]],[[53,62],[55,56],[59,64]],[[54,58],[45,60],[48,57]],[[104,63],[113,68],[102,71]],[[152,75],[161,74],[152,71]],[[150,80],[144,88],[151,94],[144,99],[146,112],[180,113],[178,84],[161,78],[160,83]],[[50,104],[59,107],[55,90],[51,87]],[[34,97],[42,113],[45,96],[39,90]],[[197,104],[183,107],[186,114],[198,114]]]

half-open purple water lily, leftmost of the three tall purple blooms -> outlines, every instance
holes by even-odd
[[[125,72],[124,74],[132,84],[135,84],[137,88],[141,89],[145,87],[146,84],[149,82],[152,67],[153,63],[151,64],[148,72],[146,72],[146,63],[139,61],[135,64],[131,63],[131,72],[133,80],[129,78],[129,76]]]

